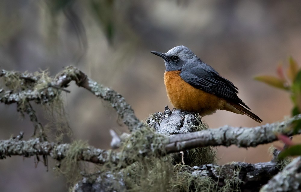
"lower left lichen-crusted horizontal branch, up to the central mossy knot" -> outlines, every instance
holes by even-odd
[[[140,138],[144,136],[146,140]],[[77,154],[76,158],[78,161],[123,168],[145,156],[151,156],[153,154],[161,154],[163,156],[162,145],[164,143],[164,137],[154,135],[150,130],[144,129],[144,133],[136,131],[131,135],[129,140],[130,142],[124,146],[120,152],[102,150],[89,145],[77,145],[76,142],[71,144],[57,144],[42,141],[41,138],[29,139],[27,141],[16,139],[0,140],[0,159],[14,155],[23,157],[47,155],[54,160],[63,160],[66,157],[70,158],[68,154],[70,154],[69,150],[72,150]],[[143,146],[144,149],[140,149],[140,146]]]

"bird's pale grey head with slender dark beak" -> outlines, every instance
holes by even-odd
[[[151,51],[151,53],[160,56],[164,59],[166,71],[181,71],[183,66],[192,66],[202,64],[203,62],[198,58],[188,47],[180,45],[167,51],[167,53],[160,53]]]

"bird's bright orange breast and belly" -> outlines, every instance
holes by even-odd
[[[164,73],[167,96],[177,109],[198,112],[201,116],[224,109],[227,102],[211,93],[196,89],[180,77],[181,71]]]

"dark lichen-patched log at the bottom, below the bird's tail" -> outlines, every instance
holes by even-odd
[[[240,191],[253,192],[259,191],[263,184],[267,183],[273,175],[279,172],[279,164],[275,162],[255,164],[234,162],[226,165],[208,164],[200,167],[194,166],[188,169],[188,172],[185,172],[185,174],[189,173],[199,179],[200,177],[209,177],[216,183],[218,182],[217,187],[219,189],[225,186],[236,186]]]

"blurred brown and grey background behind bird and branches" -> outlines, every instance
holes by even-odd
[[[121,93],[139,119],[169,105],[163,82],[166,53],[185,45],[239,89],[239,97],[263,123],[290,116],[289,94],[253,80],[274,75],[289,56],[301,62],[301,1],[139,1],[139,0],[2,0],[0,2],[0,67],[56,75],[75,65],[99,83]],[[110,106],[74,83],[63,93],[75,139],[97,148],[110,146],[109,129],[120,126]],[[34,106],[39,120],[44,111]],[[16,105],[0,105],[0,139],[33,133],[28,116]],[[247,116],[218,111],[205,116],[210,128],[259,126]],[[280,145],[281,144],[277,144]],[[218,163],[269,161],[270,145],[256,148],[218,147]],[[50,165],[53,167],[55,162]],[[66,191],[64,177],[46,172],[34,158],[0,161],[1,191]]]

